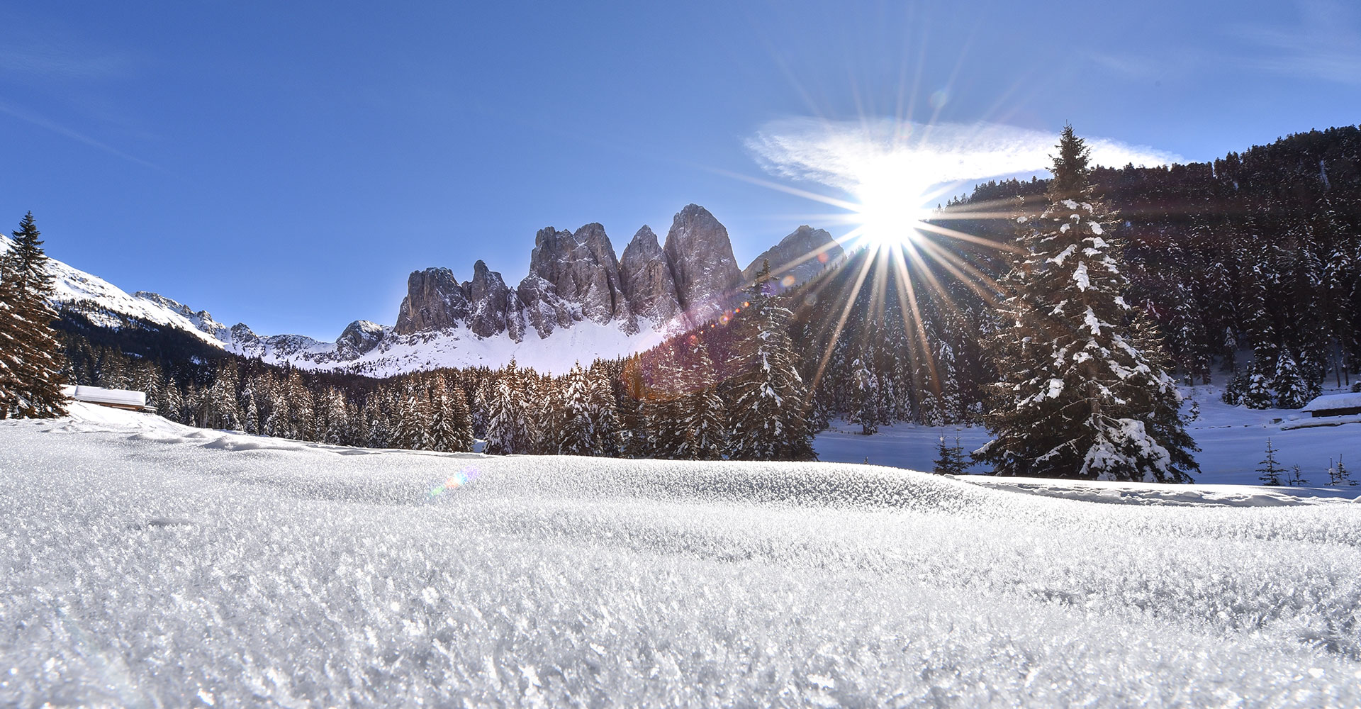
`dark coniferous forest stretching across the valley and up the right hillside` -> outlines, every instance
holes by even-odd
[[[1222,377],[1232,404],[1297,408],[1361,372],[1361,131],[1153,169],[1092,169],[1064,144],[1081,151],[1067,131],[1053,180],[985,182],[938,211],[932,225],[972,240],[928,231],[905,254],[852,250],[792,288],[764,272],[716,323],[551,376],[512,362],[374,380],[278,367],[155,327],[94,327],[78,305],[44,310],[50,286],[33,265],[42,253],[29,215],[5,257],[0,306],[18,325],[0,336],[22,344],[3,348],[0,393],[7,415],[59,411],[35,407],[44,397],[20,378],[49,393],[69,380],[144,391],[184,423],[338,445],[470,450],[482,438],[491,453],[668,459],[811,460],[813,434],[836,418],[867,434],[984,423],[999,440],[977,456],[998,472],[1175,482],[1195,464],[1173,381]],[[1066,203],[1086,210],[1071,230]],[[1072,290],[1063,302],[1105,294],[1094,332],[1113,337],[1102,351],[1126,352],[1105,374],[1049,372],[1052,351],[1017,347],[1032,337],[1066,351],[1072,328],[1015,298],[1060,287]],[[60,366],[15,357],[42,350],[33,324],[53,314]],[[15,374],[23,366],[46,369]],[[1079,382],[1109,385],[1082,395],[1087,406],[1109,396],[1087,416],[1105,422],[1083,434],[1098,442],[1074,446],[1062,426],[1048,442],[1021,434]],[[1022,396],[1034,408],[1014,412],[1017,392],[1034,386],[1053,393]],[[1142,414],[1121,414],[1130,406]],[[1021,431],[1013,442],[1009,430]],[[1145,434],[1161,441],[1155,460],[1127,455]]]

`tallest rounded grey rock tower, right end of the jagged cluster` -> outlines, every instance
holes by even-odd
[[[742,279],[728,230],[709,210],[687,204],[671,222],[661,250],[689,324],[717,317]]]

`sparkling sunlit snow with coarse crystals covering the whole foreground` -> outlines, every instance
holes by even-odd
[[[0,422],[3,706],[1361,704],[1354,502],[72,414]]]

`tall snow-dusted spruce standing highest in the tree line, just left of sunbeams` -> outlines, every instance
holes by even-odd
[[[770,264],[746,290],[739,373],[732,380],[729,452],[738,460],[817,460],[795,367],[791,313],[772,298]]]

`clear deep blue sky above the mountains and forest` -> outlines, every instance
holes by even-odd
[[[830,225],[739,177],[845,196],[762,154],[810,125],[1070,121],[1209,159],[1361,116],[1349,4],[1097,5],[8,3],[0,218],[125,290],[331,339],[393,323],[416,268],[519,282],[543,226],[622,252],[694,201],[746,265]]]

